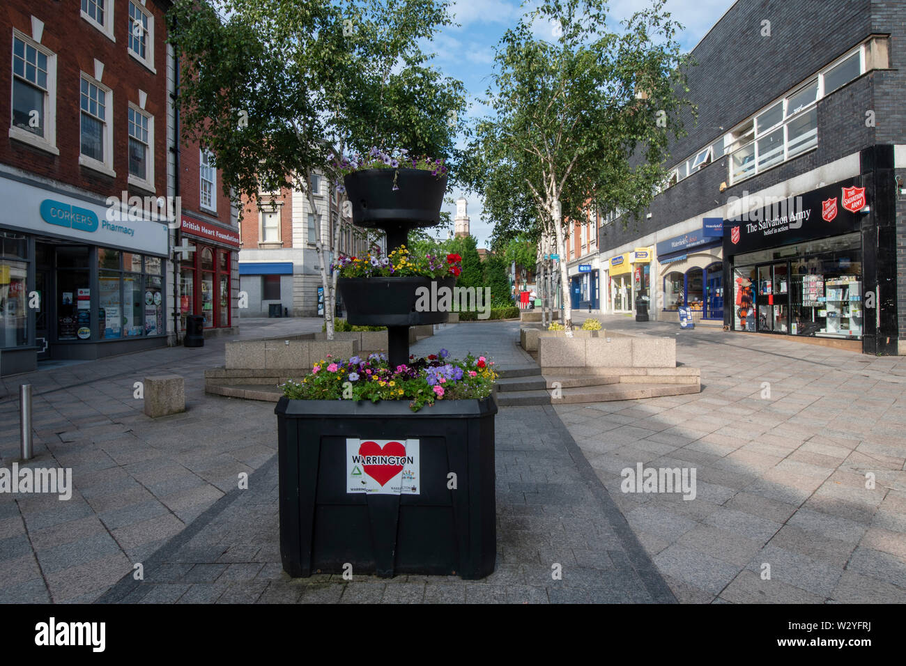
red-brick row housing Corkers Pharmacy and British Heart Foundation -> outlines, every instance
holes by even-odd
[[[177,343],[186,314],[235,318],[235,211],[198,147],[176,150],[169,6],[0,6],[0,373]]]

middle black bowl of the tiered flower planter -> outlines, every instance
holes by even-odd
[[[456,278],[341,277],[337,280],[347,321],[354,326],[419,326],[444,323]],[[445,297],[445,293],[449,296]],[[439,310],[439,305],[444,310]]]

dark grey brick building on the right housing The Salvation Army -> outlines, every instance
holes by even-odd
[[[689,307],[740,333],[898,353],[906,5],[738,0],[692,56],[699,118],[670,182],[641,220],[601,228],[611,287],[654,250],[617,304],[648,295],[661,320]]]

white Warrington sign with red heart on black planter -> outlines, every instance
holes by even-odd
[[[346,493],[419,495],[418,439],[346,439]]]

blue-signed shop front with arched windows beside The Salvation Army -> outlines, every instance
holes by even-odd
[[[661,319],[679,321],[689,307],[695,320],[723,321],[723,220],[705,217],[701,228],[657,244]]]

